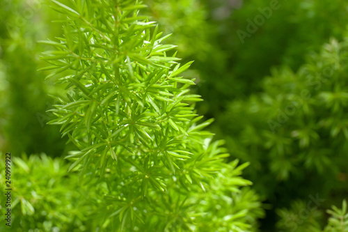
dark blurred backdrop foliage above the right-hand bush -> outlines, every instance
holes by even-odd
[[[278,4],[268,16],[264,10],[271,2]],[[262,91],[262,79],[273,66],[289,65],[296,70],[308,52],[319,51],[331,36],[342,40],[348,22],[344,0],[150,3],[153,17],[166,31],[175,33],[175,42],[180,41],[180,55],[196,61],[192,68],[200,81],[198,93],[205,98],[198,109],[218,121],[230,100]],[[264,22],[248,33],[249,22],[259,16]],[[239,30],[250,37],[242,41]]]

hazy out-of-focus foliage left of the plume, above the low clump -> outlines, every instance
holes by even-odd
[[[57,14],[47,3],[1,1],[0,143],[2,150],[15,154],[45,152],[60,156],[64,149],[58,127],[46,125],[52,117],[46,109],[53,103],[47,93],[58,89],[44,82],[44,73],[37,71],[43,49],[37,40],[61,30],[58,25],[52,27],[50,21]]]

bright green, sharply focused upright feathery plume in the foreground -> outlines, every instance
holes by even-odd
[[[155,22],[138,1],[58,1],[67,15],[63,38],[42,59],[68,89],[51,111],[63,136],[79,148],[68,155],[81,183],[104,199],[95,227],[109,231],[255,231],[258,197],[226,164],[221,141],[198,123],[184,65],[162,45]],[[217,213],[219,212],[219,213]],[[209,222],[209,223],[208,223]],[[212,223],[210,223],[212,222]]]

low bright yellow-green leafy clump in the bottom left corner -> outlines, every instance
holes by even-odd
[[[4,154],[0,154],[1,215],[7,207],[5,195],[10,185],[11,222],[0,224],[1,231],[86,231],[87,215],[95,206],[88,198],[95,199],[86,188],[77,188],[77,175],[68,175],[67,164],[47,155],[22,158],[12,153],[10,178],[5,175]],[[8,182],[6,182],[8,181]],[[6,222],[8,223],[8,222]]]

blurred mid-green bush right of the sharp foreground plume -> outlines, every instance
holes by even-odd
[[[225,119],[238,123],[226,121],[227,130],[235,132],[227,138],[229,148],[242,160],[253,160],[253,169],[248,171],[252,180],[260,173],[265,177],[260,182],[262,192],[271,192],[266,183],[274,175],[278,181],[296,178],[290,185],[301,185],[299,180],[304,181],[308,173],[331,176],[325,182],[320,180],[323,191],[333,185],[343,189],[340,186],[347,175],[347,51],[347,40],[331,40],[319,54],[309,56],[298,72],[287,67],[274,69],[264,79],[261,94],[230,105]],[[319,178],[313,178],[313,184],[317,181]]]

